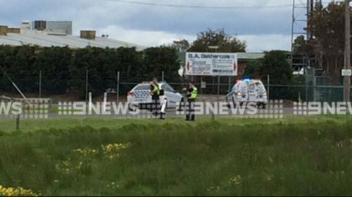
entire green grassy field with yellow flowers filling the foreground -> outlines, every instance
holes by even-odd
[[[0,196],[352,195],[348,116],[14,125],[0,120]]]

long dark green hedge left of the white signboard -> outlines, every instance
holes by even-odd
[[[139,82],[161,78],[178,81],[180,62],[173,48],[155,47],[138,52],[135,48],[40,48],[38,46],[0,46],[0,65],[25,93],[37,93],[39,71],[42,91],[47,95],[73,93],[84,97],[86,70],[89,91],[101,94],[116,87],[117,72],[121,81]],[[120,87],[122,93],[127,88]],[[0,74],[0,92],[15,93],[10,81]]]

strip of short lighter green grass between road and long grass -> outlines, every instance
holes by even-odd
[[[82,126],[90,126],[92,128],[120,128],[123,125],[134,123],[137,125],[145,125],[153,123],[156,125],[163,125],[165,123],[184,124],[184,118],[167,118],[165,121],[153,119],[139,119],[139,118],[48,118],[48,119],[21,119],[20,130],[24,133],[34,132],[36,130],[47,130],[50,128],[67,129]],[[252,125],[252,124],[306,124],[306,123],[321,123],[325,121],[332,121],[334,123],[346,123],[351,121],[349,116],[285,116],[279,119],[268,118],[239,118],[239,117],[215,117],[215,121],[219,123],[231,125]],[[200,123],[207,123],[212,121],[209,116],[199,116],[195,123],[186,123],[187,125],[194,125]],[[0,118],[0,131],[14,132],[15,118]]]

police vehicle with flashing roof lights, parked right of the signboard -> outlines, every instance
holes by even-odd
[[[265,108],[268,104],[268,95],[265,86],[260,80],[243,79],[237,83],[226,95],[229,107],[237,104],[256,103],[258,107]]]

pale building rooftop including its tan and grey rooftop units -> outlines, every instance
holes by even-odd
[[[31,27],[32,24],[33,26],[35,25],[37,29],[33,29],[33,27]],[[108,35],[101,37],[96,36],[96,32],[91,30],[81,31],[80,36],[73,36],[70,34],[70,31],[72,31],[70,29],[72,22],[34,21],[32,24],[30,21],[23,21],[21,22],[20,28],[0,26],[2,28],[0,29],[0,45],[30,45],[42,47],[68,46],[70,48],[85,48],[87,46],[99,48],[135,47],[136,50],[144,50],[146,48],[146,46],[135,43],[110,39]],[[51,28],[49,25],[53,27]],[[49,27],[49,29],[46,29],[47,27]],[[42,30],[38,30],[39,28]],[[61,31],[61,29],[64,31]]]

